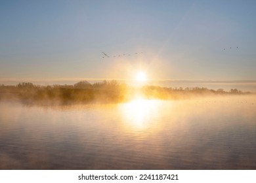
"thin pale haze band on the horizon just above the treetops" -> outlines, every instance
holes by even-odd
[[[103,79],[100,80],[91,80],[85,78],[77,78],[77,79],[62,79],[62,80],[25,80],[26,82],[32,82],[33,84],[40,85],[51,85],[51,84],[75,84],[79,80],[88,80],[91,84],[95,82],[102,82]],[[106,79],[112,80],[112,79]],[[161,86],[161,87],[171,87],[171,88],[209,88],[213,90],[223,89],[225,91],[230,91],[230,89],[238,89],[242,90],[242,92],[256,92],[256,81],[255,80],[145,80],[144,82],[137,82],[135,80],[119,80],[115,79],[117,82],[122,84],[129,84],[133,86],[138,85],[153,85],[153,86]],[[5,85],[16,85],[19,82],[24,82],[24,80],[1,80],[1,84]]]

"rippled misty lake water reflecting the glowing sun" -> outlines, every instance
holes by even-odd
[[[0,169],[256,169],[256,97],[0,101]]]

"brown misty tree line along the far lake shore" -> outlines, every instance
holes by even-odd
[[[0,85],[0,99],[15,98],[25,101],[61,101],[61,102],[123,102],[135,95],[142,95],[148,99],[186,99],[201,95],[242,95],[237,89],[224,91],[222,88],[211,90],[207,88],[168,88],[160,86],[141,86],[139,88],[119,83],[116,80],[103,80],[91,84],[87,80],[73,85],[35,85],[31,82],[21,82],[15,86]]]

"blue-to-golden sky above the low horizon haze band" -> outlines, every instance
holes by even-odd
[[[244,0],[0,1],[0,83],[129,80],[140,71],[152,80],[256,80],[255,7]]]

